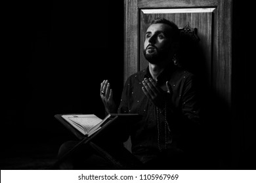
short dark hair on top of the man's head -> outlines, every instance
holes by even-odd
[[[167,25],[169,25],[171,27],[171,32],[170,32],[171,40],[175,43],[179,42],[180,32],[179,32],[178,26],[174,22],[167,20],[165,18],[158,17],[158,18],[152,20],[151,24],[167,24]]]

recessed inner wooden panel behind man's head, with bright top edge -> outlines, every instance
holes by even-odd
[[[211,54],[212,54],[212,31],[213,31],[213,12],[215,8],[167,8],[167,9],[140,9],[140,58],[139,70],[148,65],[144,58],[143,49],[146,29],[154,18],[162,17],[171,20],[180,29],[189,26],[197,29],[200,38],[198,47],[202,51],[203,60],[200,63],[201,69],[205,69],[208,83],[211,82]],[[191,48],[192,49],[192,48]],[[186,54],[186,53],[184,53]],[[187,59],[190,59],[189,57]],[[192,61],[192,60],[191,60]],[[194,60],[195,61],[195,60]]]

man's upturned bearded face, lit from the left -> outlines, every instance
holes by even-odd
[[[168,58],[171,52],[171,27],[166,24],[152,24],[146,31],[144,56],[152,64]]]

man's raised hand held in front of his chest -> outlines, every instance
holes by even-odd
[[[144,78],[142,81],[142,90],[145,95],[156,105],[157,107],[164,107],[168,99],[171,99],[173,90],[169,82],[166,82],[167,92],[164,92],[152,78]]]

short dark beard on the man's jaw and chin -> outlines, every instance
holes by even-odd
[[[152,46],[152,45],[150,45]],[[154,46],[153,46],[154,47]],[[165,61],[169,57],[169,52],[165,50],[158,50],[158,48],[154,47],[154,52],[146,53],[146,49],[143,50],[144,57],[149,63],[158,64]]]

